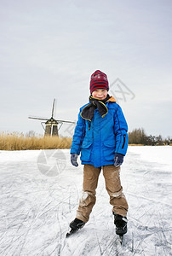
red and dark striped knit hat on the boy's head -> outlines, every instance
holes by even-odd
[[[102,73],[100,70],[96,70],[95,73],[91,75],[90,80],[90,93],[97,89],[109,90],[106,73]]]

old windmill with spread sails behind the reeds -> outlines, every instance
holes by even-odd
[[[70,123],[70,124],[75,124],[75,122],[71,122],[71,121],[66,121],[66,120],[56,120],[54,119],[54,102],[55,99],[53,100],[53,108],[52,108],[52,113],[51,113],[51,118],[50,119],[44,119],[44,118],[37,118],[37,117],[31,117],[29,116],[29,119],[37,119],[37,120],[43,120],[44,122],[41,122],[41,125],[43,126],[43,124],[45,125],[45,127],[43,126],[44,129],[44,136],[59,136],[59,130],[61,125],[63,125],[63,123]],[[58,128],[58,125],[60,125],[60,127]]]

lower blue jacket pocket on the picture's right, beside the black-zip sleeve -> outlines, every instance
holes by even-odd
[[[105,160],[113,160],[115,154],[115,140],[105,141],[103,147],[103,156]]]

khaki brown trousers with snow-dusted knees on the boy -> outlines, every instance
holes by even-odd
[[[103,176],[105,177],[106,190],[110,195],[110,204],[112,212],[116,212],[126,217],[128,211],[128,203],[123,195],[123,187],[120,181],[120,167],[102,166]],[[83,196],[79,201],[77,216],[83,222],[89,221],[89,214],[95,205],[95,189],[97,188],[98,178],[101,167],[84,165],[83,167]]]

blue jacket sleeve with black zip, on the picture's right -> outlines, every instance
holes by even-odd
[[[125,155],[127,153],[128,148],[128,125],[126,119],[124,118],[123,111],[118,106],[117,111],[115,113],[115,125],[114,125],[114,132],[116,138],[116,147],[115,153]]]

